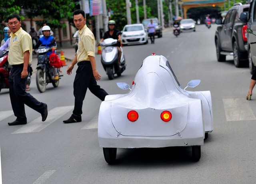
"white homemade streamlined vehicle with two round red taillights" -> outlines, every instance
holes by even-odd
[[[199,83],[192,80],[188,87]],[[118,86],[130,89],[126,83]],[[185,89],[164,56],[146,57],[130,92],[107,95],[100,105],[98,140],[106,162],[115,162],[117,148],[169,146],[191,146],[198,161],[204,138],[213,130],[212,98],[210,91]]]

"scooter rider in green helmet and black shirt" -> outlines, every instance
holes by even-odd
[[[121,36],[119,34],[120,31],[117,30],[115,27],[116,27],[116,22],[114,20],[108,21],[108,31],[106,31],[104,33],[104,36],[100,40],[100,43],[103,42],[103,40],[106,39],[106,38],[113,38],[113,39],[118,40],[118,43],[115,44],[114,46],[116,46],[116,48],[118,49],[118,64],[121,65],[121,54],[122,54],[122,51],[120,49],[120,46],[121,46],[121,43],[120,43],[121,42]]]

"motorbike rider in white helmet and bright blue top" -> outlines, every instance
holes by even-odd
[[[50,36],[50,31],[51,31],[51,28],[49,26],[42,27],[42,32],[44,36],[39,38],[35,46],[35,49],[38,49],[39,46],[45,46],[46,48],[52,47],[52,49],[56,50],[57,43],[54,37]],[[46,55],[49,56],[51,53],[52,51],[48,51]],[[59,76],[58,76],[57,68],[54,68],[54,72],[55,72],[54,80],[58,80]]]

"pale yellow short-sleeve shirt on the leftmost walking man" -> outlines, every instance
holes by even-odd
[[[29,51],[29,63],[32,61],[32,39],[31,36],[20,28],[16,33],[10,34],[10,45],[8,62],[10,65],[24,63],[24,52]]]

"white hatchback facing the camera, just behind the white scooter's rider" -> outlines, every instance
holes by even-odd
[[[121,35],[122,44],[147,44],[148,33],[145,31],[143,24],[129,24],[124,26]]]

